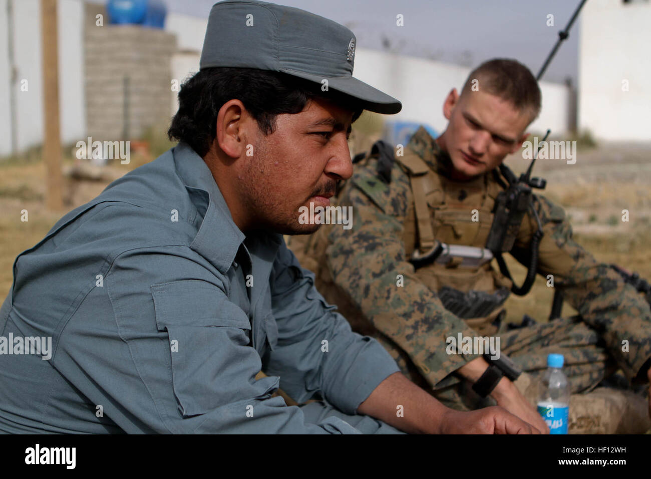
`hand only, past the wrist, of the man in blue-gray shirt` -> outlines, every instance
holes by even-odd
[[[440,428],[441,434],[540,434],[531,424],[496,406],[469,412],[449,409],[441,417]]]

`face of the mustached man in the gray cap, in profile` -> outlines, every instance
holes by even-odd
[[[299,209],[329,206],[337,181],[351,177],[352,117],[352,111],[312,100],[300,113],[278,115],[270,135],[260,132],[246,175],[249,207],[260,224],[288,235],[318,229],[299,223]]]

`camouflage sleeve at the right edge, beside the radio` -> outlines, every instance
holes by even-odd
[[[651,357],[648,303],[615,270],[598,263],[572,239],[572,227],[561,207],[544,196],[537,197],[540,201],[536,210],[544,231],[538,273],[553,275],[553,285],[563,287],[564,299],[600,334],[618,365],[632,379]],[[512,252],[523,265],[529,263],[527,246],[535,229],[536,222],[529,214]]]

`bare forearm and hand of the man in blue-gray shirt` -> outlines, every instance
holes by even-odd
[[[368,414],[408,433],[540,434],[501,407],[454,411],[402,373],[393,373],[382,381],[357,407],[357,414]]]

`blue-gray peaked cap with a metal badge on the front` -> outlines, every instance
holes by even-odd
[[[355,35],[299,8],[256,0],[227,0],[208,17],[199,68],[234,66],[283,72],[352,96],[361,108],[398,113],[402,104],[353,78]]]

